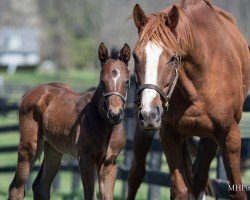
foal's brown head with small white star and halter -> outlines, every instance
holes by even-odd
[[[102,66],[100,86],[104,100],[104,111],[111,123],[120,123],[124,117],[124,106],[130,79],[128,69],[130,47],[124,44],[120,52],[113,50],[109,56],[108,49],[101,43],[98,54]]]

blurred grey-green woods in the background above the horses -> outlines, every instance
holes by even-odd
[[[131,20],[135,3],[147,13],[160,10],[173,0],[1,0],[0,28],[35,26],[39,30],[42,58],[61,67],[93,67],[99,41],[133,47],[137,37]],[[250,41],[250,3],[248,0],[215,0],[232,12],[240,29]]]

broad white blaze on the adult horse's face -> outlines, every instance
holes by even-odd
[[[145,84],[157,85],[158,64],[163,50],[153,42],[146,45]],[[142,112],[150,112],[150,105],[157,92],[152,89],[142,91]]]

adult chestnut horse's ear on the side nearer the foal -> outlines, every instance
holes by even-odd
[[[148,19],[139,4],[136,4],[133,11],[135,26],[140,31],[148,22]]]

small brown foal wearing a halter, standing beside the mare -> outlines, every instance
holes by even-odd
[[[100,84],[77,94],[64,84],[52,83],[30,90],[19,109],[20,142],[9,199],[24,198],[30,169],[44,148],[44,159],[33,183],[34,199],[50,199],[50,187],[63,154],[78,159],[85,199],[96,199],[97,172],[101,199],[113,199],[116,157],[125,145],[121,120],[129,85],[127,44],[111,57],[99,47]]]

